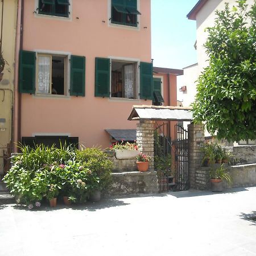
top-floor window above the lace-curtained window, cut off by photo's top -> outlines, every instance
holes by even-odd
[[[38,13],[68,17],[69,0],[39,0]]]

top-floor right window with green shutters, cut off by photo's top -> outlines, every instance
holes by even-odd
[[[112,0],[111,22],[137,27],[137,0]]]

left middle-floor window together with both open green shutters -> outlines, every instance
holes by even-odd
[[[20,51],[19,60],[20,93],[85,96],[84,56]]]

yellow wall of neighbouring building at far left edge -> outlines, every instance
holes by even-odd
[[[5,65],[0,82],[0,174],[3,172],[3,151],[11,140],[12,106],[14,90],[14,57],[18,0],[0,1],[0,35],[2,25],[2,52],[9,65]],[[2,22],[3,10],[3,22]],[[6,122],[1,122],[5,118]]]

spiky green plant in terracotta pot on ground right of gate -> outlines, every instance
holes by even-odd
[[[213,192],[223,191],[223,181],[226,181],[229,185],[232,184],[231,177],[224,167],[224,164],[221,164],[220,167],[214,169],[212,168],[209,172],[210,175],[210,185]]]

